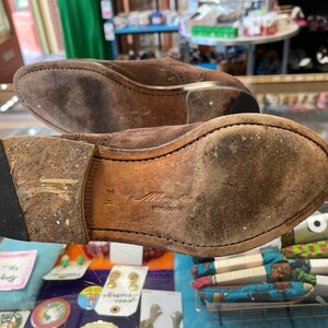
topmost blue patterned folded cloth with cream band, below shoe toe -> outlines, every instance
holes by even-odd
[[[279,262],[281,260],[283,260],[283,255],[278,251],[225,257],[211,262],[195,265],[191,268],[191,274],[197,279],[215,273],[255,268],[262,265]]]

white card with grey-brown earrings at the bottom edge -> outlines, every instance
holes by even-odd
[[[184,328],[181,294],[178,292],[143,290],[140,328]]]

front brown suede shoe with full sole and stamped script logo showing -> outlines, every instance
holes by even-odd
[[[260,114],[10,138],[0,159],[0,232],[38,242],[91,238],[224,256],[280,236],[328,196],[327,143]]]

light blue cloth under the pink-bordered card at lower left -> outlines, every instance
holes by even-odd
[[[43,285],[43,277],[54,267],[60,251],[61,244],[19,242],[3,238],[0,251],[37,250],[37,256],[30,280],[23,290],[1,291],[0,311],[33,309],[35,301]]]

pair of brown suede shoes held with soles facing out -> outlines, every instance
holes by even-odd
[[[327,199],[325,140],[258,114],[222,72],[172,58],[63,60],[24,67],[14,83],[63,134],[2,140],[3,236],[225,256],[278,237]]]

